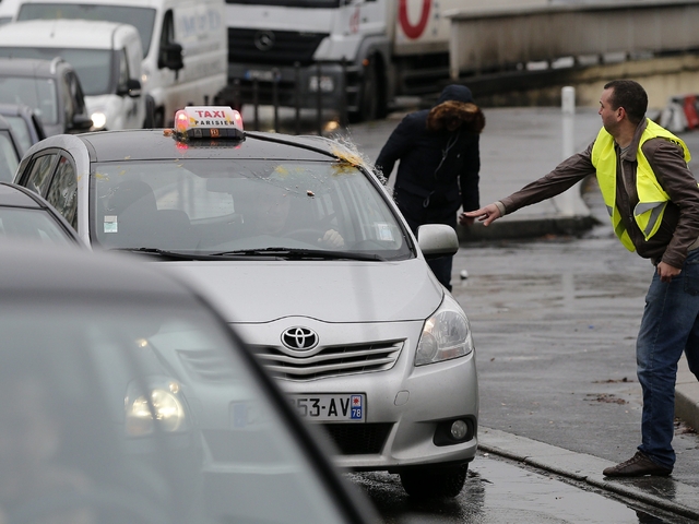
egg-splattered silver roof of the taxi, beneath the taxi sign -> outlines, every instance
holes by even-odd
[[[246,133],[240,140],[178,141],[171,130],[123,130],[75,135],[90,151],[92,162],[164,158],[248,158],[337,162],[345,148],[319,136]],[[348,154],[348,153],[346,153]]]

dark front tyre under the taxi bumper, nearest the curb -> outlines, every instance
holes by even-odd
[[[466,481],[469,464],[455,467],[417,467],[401,472],[401,484],[415,499],[454,498]]]

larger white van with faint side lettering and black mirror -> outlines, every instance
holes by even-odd
[[[144,127],[171,126],[175,111],[206,105],[226,85],[224,0],[20,0],[17,21],[106,20],[141,35]]]

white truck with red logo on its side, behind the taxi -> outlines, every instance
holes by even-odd
[[[449,11],[464,0],[226,0],[228,85],[217,97],[383,116],[449,79]],[[273,90],[273,84],[276,83]],[[320,94],[318,93],[320,90]],[[346,106],[345,106],[346,104]]]

